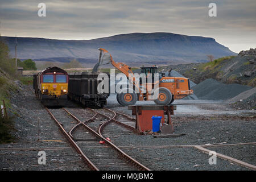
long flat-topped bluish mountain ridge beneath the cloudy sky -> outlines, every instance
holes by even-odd
[[[15,55],[15,37],[1,37]],[[187,36],[166,32],[133,33],[92,40],[56,40],[44,38],[17,38],[18,58],[33,60],[68,61],[76,58],[83,63],[96,63],[98,48],[107,49],[115,61],[125,63],[182,64],[207,61],[237,55],[213,38]]]

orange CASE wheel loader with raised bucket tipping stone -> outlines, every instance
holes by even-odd
[[[129,76],[134,75],[134,73],[131,71],[131,67],[124,63],[116,63],[113,60],[112,55],[110,55],[106,49],[99,48],[99,50],[100,57],[98,63],[93,68],[93,72],[97,72],[101,65],[110,63],[113,65],[113,67],[124,73],[127,79]],[[141,67],[141,73],[146,75],[146,83],[143,84],[141,80],[135,81],[133,80],[134,77],[132,77],[131,83],[134,85],[134,88],[132,90],[125,88],[124,90],[127,92],[117,93],[117,101],[120,105],[135,105],[137,101],[150,100],[153,100],[157,105],[169,105],[174,102],[174,100],[178,100],[193,94],[193,90],[190,89],[188,78],[171,77],[170,74],[169,76],[165,76],[165,73],[158,73],[158,67],[155,65],[152,67]],[[148,81],[148,77],[152,77],[152,80],[154,81]],[[137,92],[135,92],[135,89],[137,89]],[[150,97],[152,96],[152,93],[158,94],[156,97]]]

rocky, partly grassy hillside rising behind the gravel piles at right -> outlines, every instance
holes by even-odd
[[[251,49],[252,51],[253,49]],[[249,52],[249,51],[247,51]],[[226,56],[208,63],[179,64],[163,67],[167,71],[172,67],[175,71],[191,78],[193,82],[200,82],[213,78],[225,84],[256,85],[256,49],[254,52],[244,54],[242,51],[237,56]]]

